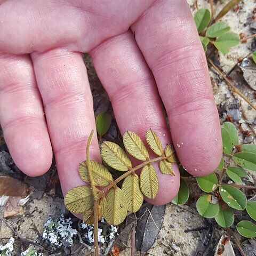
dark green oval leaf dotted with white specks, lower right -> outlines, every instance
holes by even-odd
[[[244,210],[247,199],[242,191],[230,185],[222,185],[219,192],[223,201],[230,207],[237,210]]]

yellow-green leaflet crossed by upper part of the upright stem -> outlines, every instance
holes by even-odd
[[[113,178],[107,167],[93,160],[90,160],[90,162],[95,185],[108,186],[109,182],[111,182]],[[82,180],[90,184],[86,161],[79,164],[79,175]]]

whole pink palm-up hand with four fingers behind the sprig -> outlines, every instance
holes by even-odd
[[[82,52],[92,57],[122,134],[145,141],[153,129],[163,146],[173,141],[193,175],[218,166],[218,111],[185,0],[6,0],[0,31],[0,122],[26,174],[45,173],[54,152],[63,194],[84,185],[77,169],[95,121]],[[90,156],[101,159],[96,136]],[[159,190],[147,201],[165,204],[178,192],[178,167],[172,177],[155,166]]]

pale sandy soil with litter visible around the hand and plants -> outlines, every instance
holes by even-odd
[[[193,13],[195,12],[194,3],[194,0],[188,0],[188,4],[190,5]],[[209,8],[209,4],[205,0],[198,0],[197,5],[198,8]],[[219,6],[218,10],[220,10],[222,6],[223,4]],[[253,14],[253,10],[255,12],[255,1],[244,0],[240,2],[239,6],[241,7],[239,10],[236,12],[230,11],[224,18],[222,18],[222,20],[226,21],[231,27],[231,31],[234,31],[237,34],[244,33],[245,36],[255,34],[256,21],[253,21],[251,18],[253,15],[255,17],[255,13]],[[250,58],[245,58],[255,50],[256,41],[254,38],[249,39],[247,43],[231,48],[230,52],[226,55],[220,53],[214,56],[215,63],[217,63],[217,65],[221,67],[226,74],[229,74],[235,86],[254,105],[256,105],[256,65],[251,62]],[[107,94],[102,89],[97,75],[95,75],[90,57],[85,55],[84,59],[94,97],[95,115],[106,111],[113,115]],[[237,65],[239,61],[241,62]],[[234,70],[232,71],[233,68]],[[254,111],[243,99],[239,97],[234,98],[227,84],[212,68],[210,68],[210,76],[214,99],[219,109],[220,121],[226,121],[227,115],[233,116],[234,119],[237,119],[237,124],[241,124],[244,130],[250,131],[250,134],[246,137],[240,134],[240,142],[255,143],[256,111]],[[74,245],[71,248],[67,247],[64,249],[65,246],[62,246],[60,249],[56,250],[55,253],[49,243],[47,244],[46,242],[42,242],[45,223],[49,218],[57,220],[60,218],[60,214],[64,214],[66,218],[71,217],[63,205],[63,197],[58,184],[57,170],[55,170],[53,164],[51,170],[42,177],[26,177],[12,162],[6,145],[4,144],[2,133],[0,133],[0,136],[0,175],[7,175],[24,180],[31,190],[28,202],[24,205],[17,206],[17,202],[20,202],[20,199],[23,197],[10,197],[9,202],[7,202],[7,206],[9,206],[7,211],[6,205],[3,206],[4,198],[0,197],[0,217],[6,218],[7,223],[9,223],[9,225],[17,231],[20,236],[33,239],[36,243],[35,248],[38,250],[37,255],[39,255],[40,251],[37,244],[43,245],[44,248],[48,250],[47,252],[43,252],[43,255],[91,254],[89,247],[84,244],[81,246],[81,244],[79,244],[79,238],[75,235],[74,237],[76,237],[76,239],[74,239]],[[111,124],[108,136],[113,140],[117,139],[118,129],[115,122]],[[254,173],[251,173],[251,177],[252,182],[255,182],[256,177]],[[191,191],[193,191],[195,195],[199,193],[198,188],[192,185],[189,186],[191,186]],[[219,228],[214,221],[206,221],[202,218],[195,209],[195,202],[196,201],[192,198],[189,200],[189,203],[182,207],[173,204],[166,205],[162,228],[153,247],[148,251],[148,255],[195,255],[198,247],[203,244],[203,239],[207,233],[207,227],[209,227],[209,225],[213,227],[213,238],[209,245],[209,254],[207,255],[214,254],[213,251],[215,246],[217,245],[221,235],[225,234],[226,231]],[[77,227],[77,230],[79,230],[78,220],[74,217],[71,218],[71,221],[73,221],[72,228]],[[68,226],[67,223],[65,225],[67,225],[70,231],[71,227]],[[196,228],[202,229],[199,231],[185,232],[187,229]],[[72,230],[70,232],[76,233],[76,231]],[[1,223],[0,221],[0,245],[6,244],[8,239],[13,236],[15,237],[15,253],[13,255],[20,255],[22,251],[28,248],[28,241],[18,238],[18,235],[13,234],[10,227],[7,227],[4,222]],[[239,238],[238,235],[237,237]],[[127,249],[119,255],[130,255],[130,250],[131,249],[128,246]],[[238,252],[236,253],[239,255]]]

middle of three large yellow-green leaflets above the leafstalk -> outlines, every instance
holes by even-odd
[[[148,150],[140,137],[131,131],[124,133],[123,142],[126,150],[135,158],[146,161],[149,158]]]

